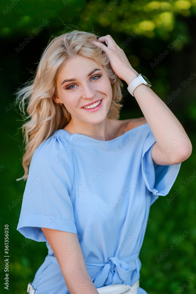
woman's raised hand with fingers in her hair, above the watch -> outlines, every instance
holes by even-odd
[[[116,44],[110,35],[100,37],[98,38],[98,41],[91,41],[91,43],[105,52],[115,74],[127,84],[139,76],[138,72],[133,69],[128,61],[123,49]],[[103,43],[106,43],[107,46]]]

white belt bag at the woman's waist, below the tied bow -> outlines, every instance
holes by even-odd
[[[99,294],[137,294],[139,288],[139,280],[131,287],[123,284],[113,284],[96,288]]]

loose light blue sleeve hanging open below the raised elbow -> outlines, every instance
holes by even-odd
[[[142,153],[142,173],[145,185],[151,194],[152,205],[159,196],[165,196],[172,188],[180,170],[181,163],[174,165],[159,165],[153,162],[151,151],[156,142],[150,130],[143,146]]]

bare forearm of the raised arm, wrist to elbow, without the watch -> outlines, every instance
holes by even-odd
[[[125,81],[129,84],[138,75],[132,72]],[[178,161],[179,158],[189,157],[192,151],[190,139],[165,103],[144,84],[135,89],[134,96],[159,148],[166,151],[167,148],[173,147],[169,155],[173,162]]]

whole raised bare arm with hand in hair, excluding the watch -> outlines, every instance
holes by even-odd
[[[139,76],[130,65],[123,49],[120,49],[110,35],[91,43],[105,52],[115,74],[128,85]],[[180,121],[155,92],[144,84],[135,89],[134,97],[156,140],[151,152],[153,161],[160,165],[185,161],[191,155],[192,144]]]

